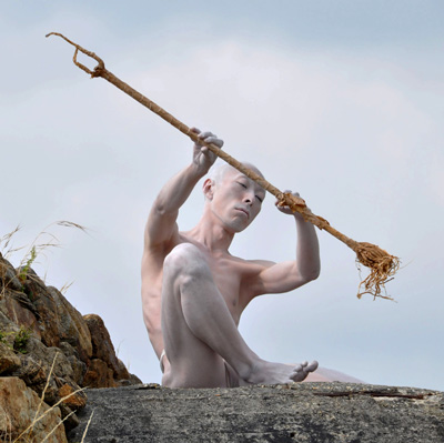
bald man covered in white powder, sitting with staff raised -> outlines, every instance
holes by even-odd
[[[211,132],[193,131],[206,142],[223,144]],[[194,144],[192,163],[164,185],[147,223],[143,315],[163,369],[162,384],[218,387],[302,381],[316,370],[317,362],[289,365],[264,361],[246,345],[238,324],[255,296],[292,291],[317,278],[314,226],[289,208],[278,207],[295,219],[296,259],[273,263],[231,255],[234,235],[259,214],[265,191],[223,165],[203,183],[205,203],[199,223],[191,231],[179,231],[179,209],[214,161],[208,148]]]

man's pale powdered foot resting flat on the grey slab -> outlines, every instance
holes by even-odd
[[[251,384],[284,384],[302,382],[306,376],[317,369],[317,362],[303,362],[296,365],[271,363],[261,361],[244,380]]]

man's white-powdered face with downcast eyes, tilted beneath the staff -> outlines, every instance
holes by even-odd
[[[213,188],[211,210],[225,229],[243,231],[259,214],[265,191],[235,169],[224,172]]]

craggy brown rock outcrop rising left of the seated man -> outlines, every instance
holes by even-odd
[[[54,406],[59,419],[53,420],[63,420],[63,432],[79,423],[75,414],[87,403],[84,387],[141,383],[117,358],[99,315],[83,316],[32,269],[16,270],[1,254],[0,380],[16,387],[21,381],[26,392],[31,390],[44,401],[44,407]],[[6,392],[0,393],[3,400]],[[21,416],[31,404],[29,395],[17,410]],[[16,423],[14,432],[19,432],[24,419],[14,417],[14,411],[8,412],[7,422]],[[7,432],[7,422],[0,417],[0,435]]]

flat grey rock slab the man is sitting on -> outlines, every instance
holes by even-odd
[[[444,442],[444,393],[349,383],[88,390],[85,443]]]

